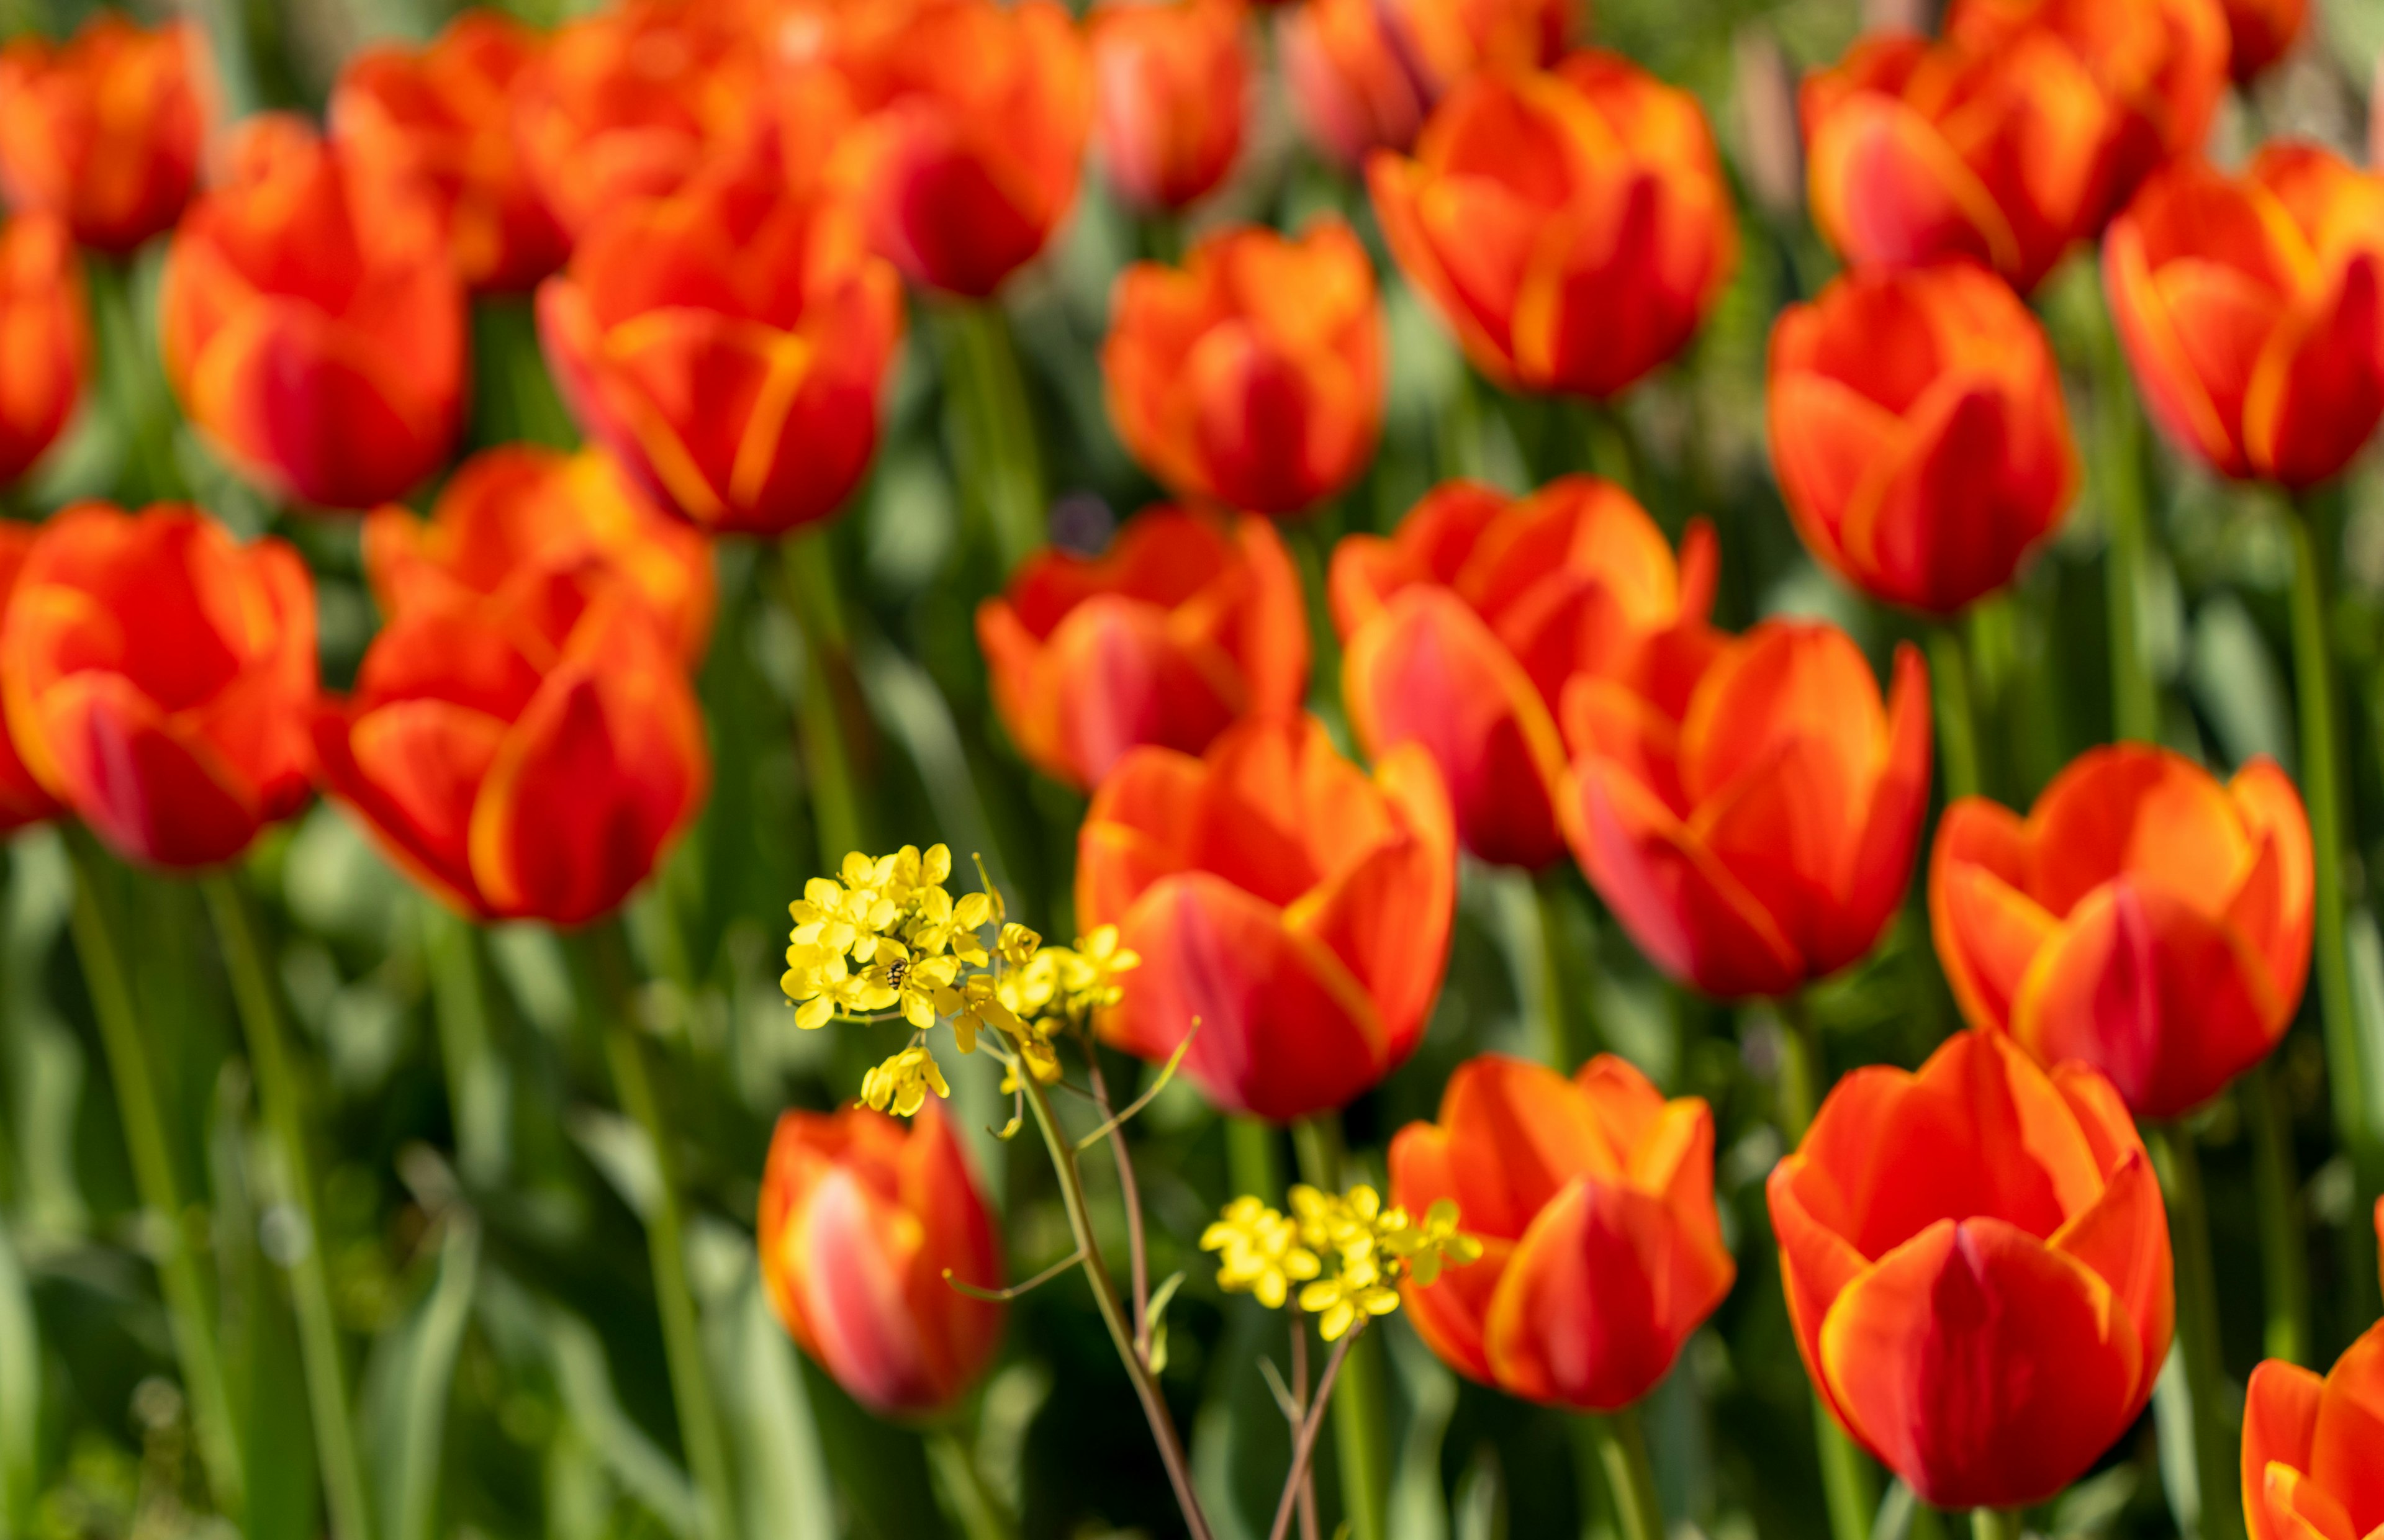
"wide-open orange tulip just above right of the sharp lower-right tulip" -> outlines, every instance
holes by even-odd
[[[2093,749],[2026,822],[1938,822],[1929,918],[1962,1016],[2079,1058],[2174,1118],[2267,1058],[2310,973],[2310,820],[2270,760],[2229,784],[2141,744]]]

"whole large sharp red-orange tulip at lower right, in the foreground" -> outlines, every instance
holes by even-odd
[[[2043,1502],[2153,1397],[2169,1218],[2096,1070],[1991,1032],[1860,1068],[1767,1194],[1821,1402],[1922,1502]]]

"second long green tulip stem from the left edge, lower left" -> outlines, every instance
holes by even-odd
[[[274,1001],[272,975],[248,918],[248,896],[229,873],[200,880],[215,934],[224,946],[224,970],[231,973],[231,999],[248,1037],[250,1070],[257,1078],[257,1101],[281,1156],[281,1201],[298,1216],[296,1259],[291,1259],[291,1306],[298,1316],[298,1359],[305,1368],[308,1409],[315,1418],[315,1457],[322,1464],[324,1504],[336,1540],[372,1535],[372,1502],[365,1495],[365,1468],[355,1452],[355,1423],[348,1414],[348,1368],[341,1361],[339,1314],[331,1309],[331,1273],[324,1266],[322,1209],[315,1201],[315,1163],[305,1140],[305,1092],[291,1063],[281,1030],[281,1006]]]

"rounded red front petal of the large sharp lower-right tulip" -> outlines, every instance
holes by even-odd
[[[2136,1325],[2084,1263],[1995,1221],[1941,1221],[1857,1278],[1821,1371],[1864,1445],[1931,1507],[2045,1502],[2150,1397]]]

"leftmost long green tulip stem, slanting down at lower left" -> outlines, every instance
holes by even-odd
[[[150,1051],[141,1042],[131,987],[114,930],[100,903],[98,844],[79,825],[67,827],[67,856],[74,863],[74,951],[83,961],[91,989],[91,1016],[100,1027],[100,1049],[117,1082],[117,1118],[134,1161],[134,1187],[141,1194],[143,1230],[157,1259],[157,1290],[164,1294],[167,1325],[174,1333],[174,1359],[181,1364],[184,1390],[191,1397],[191,1426],[198,1457],[207,1471],[215,1507],[238,1519],[248,1507],[241,1440],[231,1421],[231,1392],[224,1385],[224,1356],[215,1342],[207,1287],[191,1247],[191,1218],[184,1211],[181,1185],[174,1180],[172,1142],[150,1080]]]

